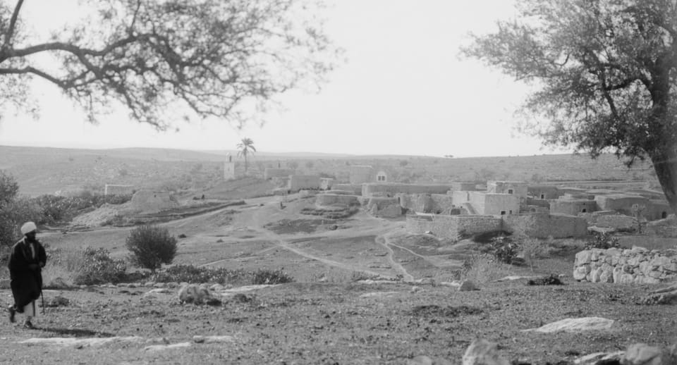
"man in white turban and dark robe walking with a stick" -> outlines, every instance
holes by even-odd
[[[47,263],[44,247],[35,238],[37,226],[26,222],[21,226],[24,237],[12,246],[9,256],[9,277],[14,305],[9,307],[9,321],[14,323],[17,313],[26,316],[23,326],[34,328],[30,320],[37,314],[35,300],[42,292],[42,273]]]

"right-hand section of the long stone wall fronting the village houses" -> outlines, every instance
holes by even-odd
[[[526,230],[530,237],[566,238],[587,236],[587,221],[578,216],[563,214],[525,214],[502,216],[504,230]]]

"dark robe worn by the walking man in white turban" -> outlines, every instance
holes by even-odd
[[[35,258],[32,256],[29,245],[35,245]],[[16,242],[12,246],[9,256],[9,278],[14,297],[14,306],[19,313],[23,307],[40,297],[42,291],[41,268],[47,263],[47,254],[44,247],[37,240],[30,242],[28,237]],[[37,264],[37,269],[29,268],[30,264]]]

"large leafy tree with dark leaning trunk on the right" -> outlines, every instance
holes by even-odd
[[[677,209],[677,0],[518,0],[463,52],[535,86],[523,130],[631,166],[651,159]]]

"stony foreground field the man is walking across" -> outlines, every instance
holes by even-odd
[[[37,329],[24,329],[20,321],[0,326],[0,361],[410,364],[427,356],[461,364],[470,342],[483,338],[520,364],[573,364],[635,342],[666,347],[677,340],[676,307],[638,304],[649,287],[513,280],[468,292],[369,281],[226,289],[214,291],[222,300],[215,306],[181,304],[178,288],[47,290],[45,301],[56,307],[34,321]],[[10,295],[0,291],[4,302]],[[525,331],[587,317],[605,318],[609,326]]]

